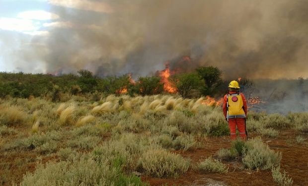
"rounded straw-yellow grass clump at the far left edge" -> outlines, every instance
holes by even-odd
[[[20,111],[17,107],[2,108],[0,112],[0,124],[20,125],[26,122],[26,113]]]

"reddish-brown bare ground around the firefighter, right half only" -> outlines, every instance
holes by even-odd
[[[262,138],[271,149],[282,152],[281,171],[285,170],[287,175],[294,181],[294,186],[308,186],[308,143],[307,140],[302,143],[296,143],[295,137],[299,135],[297,131],[283,130],[280,131],[278,138]],[[254,137],[255,135],[251,135]],[[307,134],[303,134],[305,138]],[[215,158],[216,152],[220,148],[228,148],[230,145],[228,136],[212,137],[204,141],[204,147],[193,151],[177,151],[185,158],[190,158],[192,163],[198,163],[200,160],[209,156]],[[193,169],[190,169],[186,175],[182,175],[177,179],[158,179],[143,176],[142,180],[150,183],[151,186],[277,186],[273,181],[271,171],[255,170],[249,171],[243,168],[243,165],[238,161],[223,161],[228,164],[229,172],[227,174],[203,174]],[[221,184],[213,183],[214,181]]]

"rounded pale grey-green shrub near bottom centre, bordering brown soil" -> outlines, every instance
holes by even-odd
[[[139,159],[138,167],[147,175],[158,178],[178,177],[185,174],[190,161],[179,154],[173,154],[163,149],[150,149]]]

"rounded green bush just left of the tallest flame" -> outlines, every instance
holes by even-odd
[[[163,83],[160,82],[160,77],[157,76],[139,77],[136,89],[143,96],[160,94],[163,91]]]

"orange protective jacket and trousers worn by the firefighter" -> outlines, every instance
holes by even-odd
[[[235,94],[236,92],[229,92],[229,94]],[[239,93],[241,95],[241,98],[243,100],[243,110],[245,113],[245,116],[247,116],[247,101],[245,96],[242,93]],[[227,94],[224,97],[224,103],[223,103],[223,111],[225,118],[227,119]],[[239,135],[242,139],[247,139],[247,131],[246,131],[246,118],[229,118],[229,127],[230,127],[230,134],[231,134],[231,140],[236,139],[236,126],[237,130],[239,132]]]

